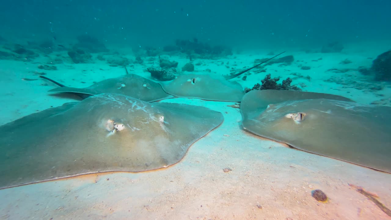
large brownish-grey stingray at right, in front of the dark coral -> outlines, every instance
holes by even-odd
[[[391,173],[391,107],[302,99],[241,111],[243,128],[256,135]]]

